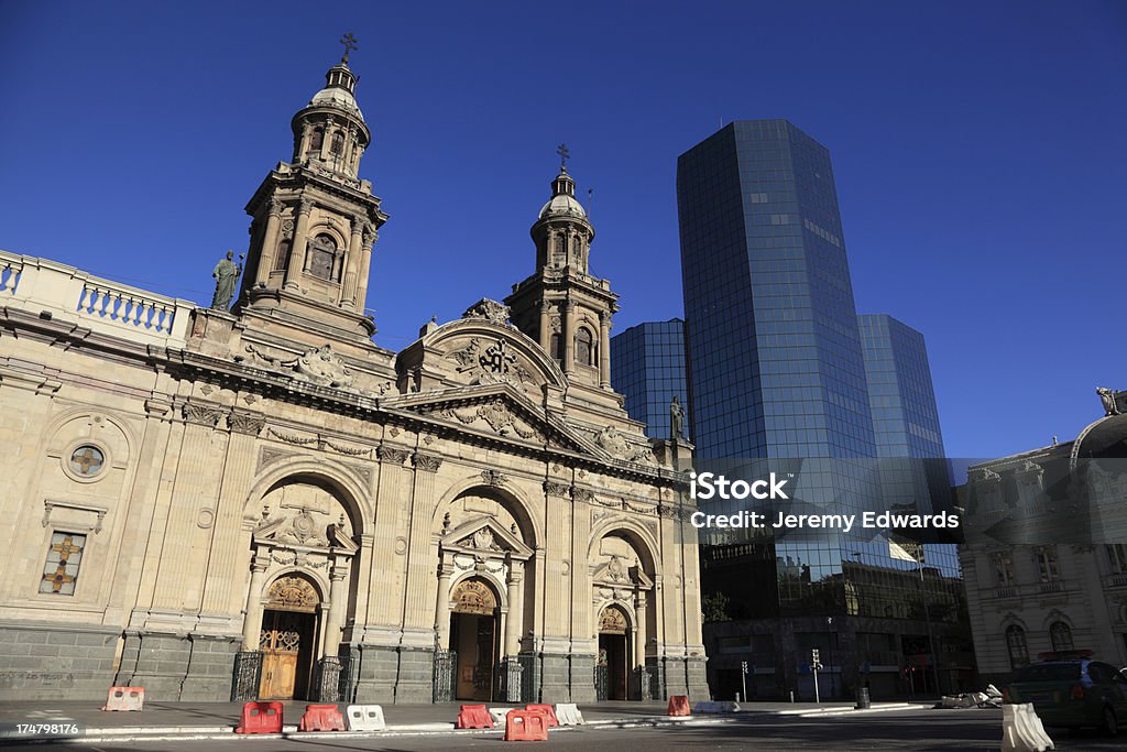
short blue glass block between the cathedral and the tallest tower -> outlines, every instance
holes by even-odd
[[[625,396],[627,412],[650,436],[669,439],[669,404],[685,410],[685,322],[646,321],[611,337],[611,386]],[[684,422],[682,433],[689,433]],[[684,435],[692,439],[691,435]]]

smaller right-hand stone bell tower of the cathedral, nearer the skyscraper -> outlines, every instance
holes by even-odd
[[[595,229],[575,197],[567,171],[567,148],[560,145],[560,172],[552,196],[532,225],[536,271],[513,285],[505,299],[513,324],[540,343],[574,384],[611,389],[611,317],[618,295],[611,283],[588,268]]]

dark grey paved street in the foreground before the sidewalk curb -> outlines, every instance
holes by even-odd
[[[855,716],[802,717],[745,713],[738,719],[717,723],[709,718],[677,727],[598,728],[553,731],[545,746],[554,750],[612,747],[628,750],[999,750],[1001,710],[932,710],[907,708]],[[1095,732],[1049,729],[1057,750],[1121,750],[1122,738]],[[144,741],[136,743],[76,744],[69,749],[91,752],[265,752],[307,750],[449,750],[504,749],[499,733],[440,734],[382,738],[251,740],[230,742]],[[59,749],[56,745],[55,749]],[[35,749],[35,747],[24,747]],[[44,749],[38,746],[38,749]],[[540,747],[538,747],[540,749]]]

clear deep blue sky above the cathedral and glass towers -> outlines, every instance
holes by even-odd
[[[352,30],[391,220],[376,342],[532,271],[556,145],[615,330],[680,316],[676,157],[786,117],[833,154],[858,309],[922,330],[948,452],[1127,388],[1127,3],[0,0],[0,248],[206,303]]]

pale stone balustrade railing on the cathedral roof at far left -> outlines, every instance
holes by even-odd
[[[147,344],[185,344],[195,303],[103,280],[73,266],[0,250],[0,306],[79,322]]]

